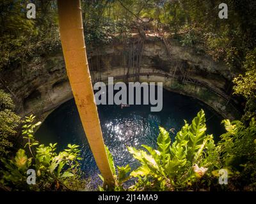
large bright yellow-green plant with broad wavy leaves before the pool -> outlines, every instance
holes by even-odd
[[[203,110],[191,125],[185,121],[172,145],[169,133],[164,128],[159,128],[159,131],[157,150],[146,145],[142,147],[147,152],[128,147],[132,156],[141,164],[131,172],[131,177],[138,178],[138,182],[131,187],[132,190],[188,189],[191,182],[196,182],[208,169],[214,167],[218,155],[212,154],[216,151],[212,135],[205,134]],[[198,167],[203,165],[204,167]]]

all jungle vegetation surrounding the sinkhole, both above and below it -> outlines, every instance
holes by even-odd
[[[69,144],[56,152],[57,144],[47,146],[35,141],[33,115],[20,119],[15,113],[12,92],[1,77],[6,69],[22,69],[26,77],[40,70],[42,56],[60,50],[56,1],[36,1],[36,19],[26,19],[29,1],[0,3],[0,187],[4,190],[81,191],[86,179],[79,168],[79,147]],[[159,128],[157,149],[143,145],[128,147],[140,161],[136,170],[115,166],[111,149],[106,148],[115,186],[100,190],[199,191],[256,190],[256,4],[253,0],[226,1],[228,19],[218,18],[221,1],[199,0],[82,0],[84,37],[88,47],[124,41],[136,31],[143,38],[145,20],[156,32],[169,33],[184,47],[193,47],[215,61],[224,61],[237,77],[234,95],[245,102],[240,120],[223,120],[226,133],[215,143],[205,133],[205,115],[200,111],[189,124],[185,122],[175,140]],[[27,65],[27,66],[24,66]],[[26,69],[25,69],[26,67]],[[23,123],[23,125],[21,125]],[[24,124],[26,123],[26,124]],[[17,140],[22,129],[24,142]],[[15,140],[13,140],[15,138]],[[18,141],[18,142],[17,142]],[[33,168],[40,182],[26,185],[26,170]],[[228,185],[219,185],[218,170],[228,170]],[[134,180],[127,186],[127,180]],[[103,177],[102,177],[102,180]]]

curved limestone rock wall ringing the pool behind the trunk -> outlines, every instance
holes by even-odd
[[[93,82],[108,77],[125,82],[163,82],[164,88],[200,99],[223,117],[239,117],[237,101],[229,96],[230,79],[235,73],[230,73],[222,62],[181,47],[175,40],[168,43],[170,55],[163,41],[154,36],[142,43],[133,37],[127,43],[88,48]],[[12,92],[20,115],[34,113],[44,120],[54,108],[72,98],[72,91],[61,50],[45,54],[40,62],[36,70],[28,64],[23,69],[2,71],[0,88]]]

